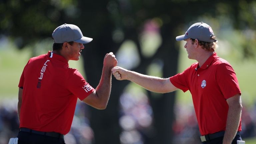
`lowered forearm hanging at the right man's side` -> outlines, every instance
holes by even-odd
[[[232,140],[234,139],[239,126],[241,112],[242,105],[229,107],[223,144],[231,144]]]

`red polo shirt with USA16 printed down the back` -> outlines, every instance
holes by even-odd
[[[95,90],[64,57],[50,51],[28,61],[19,87],[20,128],[61,134],[71,128],[77,98],[83,100]]]

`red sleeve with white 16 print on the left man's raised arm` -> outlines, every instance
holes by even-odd
[[[73,73],[70,74],[67,80],[67,88],[81,101],[95,91],[95,89],[86,82],[80,72],[76,69],[73,70]]]

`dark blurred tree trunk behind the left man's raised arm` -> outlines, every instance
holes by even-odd
[[[102,74],[103,60],[106,53],[113,51],[114,43],[112,41],[110,28],[107,27],[99,37],[94,37],[90,44],[85,45],[82,52],[84,57],[84,68],[86,80],[94,88],[97,87]],[[115,52],[115,51],[113,51]],[[114,81],[114,80],[113,80]],[[119,134],[119,96],[126,83],[112,83],[110,99],[105,110],[97,110],[90,107],[90,125],[94,131],[96,144],[118,144]]]

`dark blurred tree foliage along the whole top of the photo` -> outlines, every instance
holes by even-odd
[[[0,13],[0,32],[11,37],[18,48],[51,37],[52,31],[65,22],[80,23],[81,29],[93,37],[98,37],[105,26],[112,27],[113,32],[129,31],[139,29],[145,20],[153,18],[161,27],[178,28],[198,16],[225,17],[222,23],[228,19],[231,27],[245,31],[255,30],[256,25],[256,2],[251,0],[215,1],[210,5],[206,0],[4,0]],[[245,57],[255,56],[255,39],[255,32],[253,37],[245,36]]]

